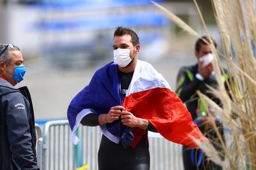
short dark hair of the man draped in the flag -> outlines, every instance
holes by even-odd
[[[132,42],[133,46],[140,44],[140,39],[139,39],[138,35],[136,34],[136,32],[132,31],[129,28],[116,27],[116,30],[114,32],[114,38],[115,38],[115,36],[124,36],[124,35],[131,36],[131,42]]]

